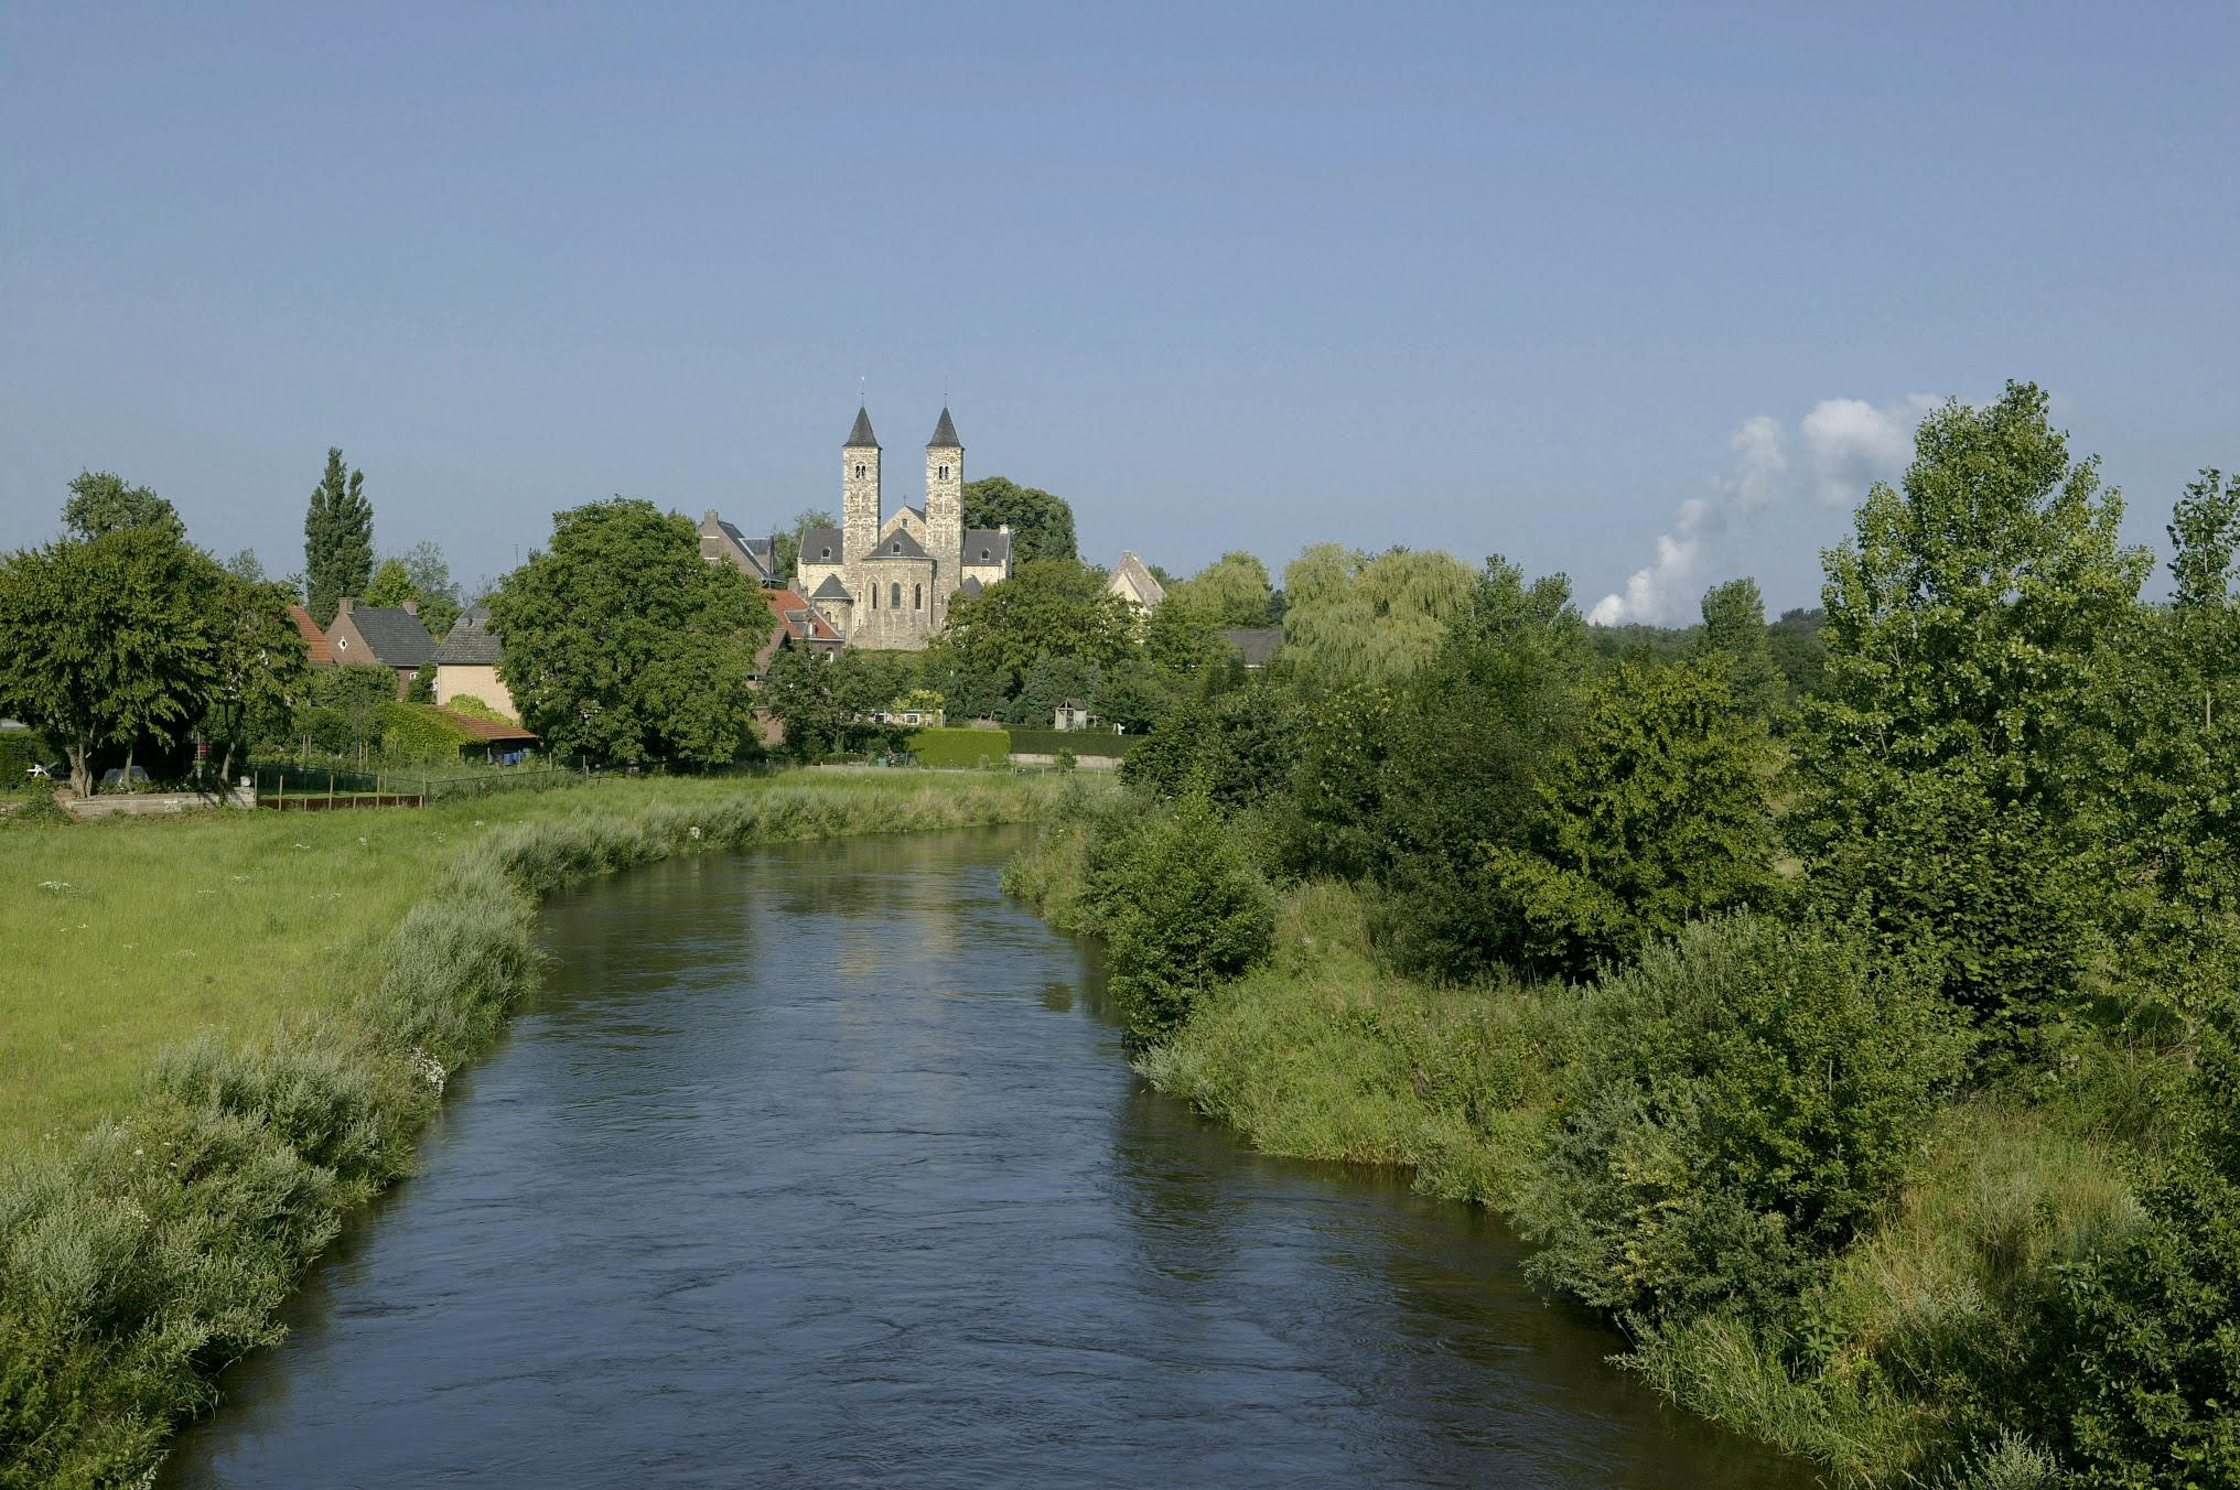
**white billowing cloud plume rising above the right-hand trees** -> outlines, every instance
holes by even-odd
[[[1586,614],[1595,625],[1644,621],[1671,625],[1693,612],[1696,574],[1707,540],[1727,520],[1785,502],[1803,482],[1814,502],[1850,506],[1875,482],[1897,479],[1913,459],[1913,428],[1938,406],[1929,394],[1908,394],[1877,408],[1866,399],[1821,399],[1796,421],[1799,471],[1792,471],[1790,437],[1772,415],[1752,415],[1727,439],[1734,464],[1714,479],[1718,500],[1689,497],[1669,533],[1658,536],[1655,562],[1635,569],[1622,592],[1595,600]]]

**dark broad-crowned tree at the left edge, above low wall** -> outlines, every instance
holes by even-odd
[[[0,708],[69,755],[94,789],[92,753],[152,737],[175,744],[215,688],[211,587],[217,565],[168,524],[119,527],[11,553],[0,565]]]

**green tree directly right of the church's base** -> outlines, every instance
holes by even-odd
[[[1071,558],[1042,558],[1019,565],[1008,580],[977,596],[950,600],[930,665],[997,677],[1008,699],[1039,656],[1086,665],[1120,661],[1133,645],[1131,625],[1133,607],[1104,594],[1093,569]]]

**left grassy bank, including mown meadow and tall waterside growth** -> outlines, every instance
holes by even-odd
[[[679,851],[1017,822],[1051,793],[647,782],[11,829],[9,1111],[56,1136],[0,1179],[0,1483],[137,1479],[226,1362],[278,1340],[305,1264],[405,1172],[446,1075],[533,984],[542,892]]]

